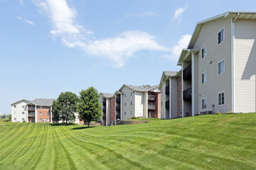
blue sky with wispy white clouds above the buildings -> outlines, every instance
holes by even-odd
[[[196,23],[256,2],[0,0],[0,114],[26,99],[123,84],[157,85],[178,71]]]

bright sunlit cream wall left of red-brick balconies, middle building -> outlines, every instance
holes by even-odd
[[[135,117],[144,117],[144,93],[143,92],[135,92]]]

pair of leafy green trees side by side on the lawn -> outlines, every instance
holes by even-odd
[[[94,87],[79,92],[79,97],[72,92],[64,92],[54,100],[52,105],[54,121],[63,121],[65,124],[74,121],[75,113],[81,121],[88,124],[99,121],[102,117],[102,107],[99,103],[99,92]]]

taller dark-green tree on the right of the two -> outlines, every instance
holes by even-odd
[[[87,123],[88,127],[92,121],[98,121],[102,117],[102,107],[99,103],[98,90],[94,87],[81,90],[77,111],[81,120]]]

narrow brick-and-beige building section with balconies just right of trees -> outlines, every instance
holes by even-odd
[[[100,93],[100,104],[102,104],[102,125],[116,124],[115,96],[112,93]]]

